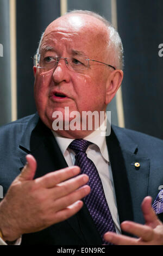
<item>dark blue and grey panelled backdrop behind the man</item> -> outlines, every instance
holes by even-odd
[[[88,9],[111,21],[111,0],[68,0],[68,10]],[[0,0],[0,125],[11,120],[9,89],[9,1]],[[117,25],[124,47],[122,83],[125,127],[163,139],[162,0],[117,0]],[[17,0],[17,118],[36,111],[33,97],[33,61],[41,33],[60,16],[59,0]],[[116,101],[112,123],[118,124]]]

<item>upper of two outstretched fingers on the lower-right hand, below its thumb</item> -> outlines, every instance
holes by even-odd
[[[151,241],[154,236],[154,232],[151,227],[131,221],[122,222],[121,228],[130,234],[141,237],[141,240],[143,241]]]

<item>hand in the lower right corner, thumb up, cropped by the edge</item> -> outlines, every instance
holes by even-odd
[[[145,218],[145,225],[131,221],[121,223],[121,228],[130,234],[139,238],[133,238],[125,235],[118,235],[107,232],[104,239],[115,245],[163,245],[163,224],[159,221],[152,209],[152,198],[145,197],[142,202],[142,212]]]

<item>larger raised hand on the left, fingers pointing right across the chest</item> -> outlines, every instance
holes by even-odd
[[[79,167],[67,167],[33,179],[36,160],[32,155],[26,159],[28,163],[0,204],[0,229],[8,241],[66,220],[82,208],[80,199],[90,192],[85,185],[89,178],[78,175]]]

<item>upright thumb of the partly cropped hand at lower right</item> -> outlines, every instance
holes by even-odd
[[[145,197],[143,199],[141,208],[146,224],[150,225],[152,228],[155,228],[156,225],[160,223],[160,221],[158,220],[158,217],[152,208],[152,197]]]

